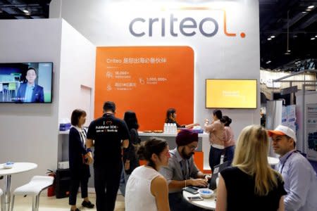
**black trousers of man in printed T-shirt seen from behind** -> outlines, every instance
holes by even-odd
[[[122,160],[111,163],[94,163],[94,189],[97,211],[113,211],[120,184]]]

